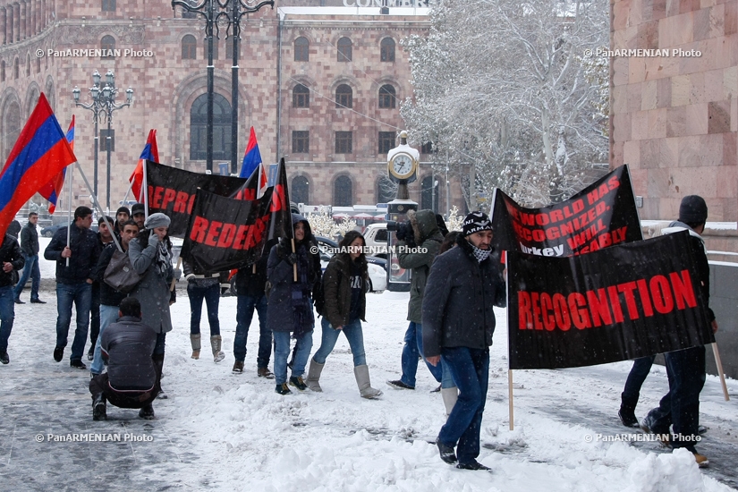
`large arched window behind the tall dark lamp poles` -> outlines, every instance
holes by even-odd
[[[190,158],[207,157],[208,94],[195,99],[190,110]],[[231,104],[220,94],[213,94],[213,159],[231,156]]]

